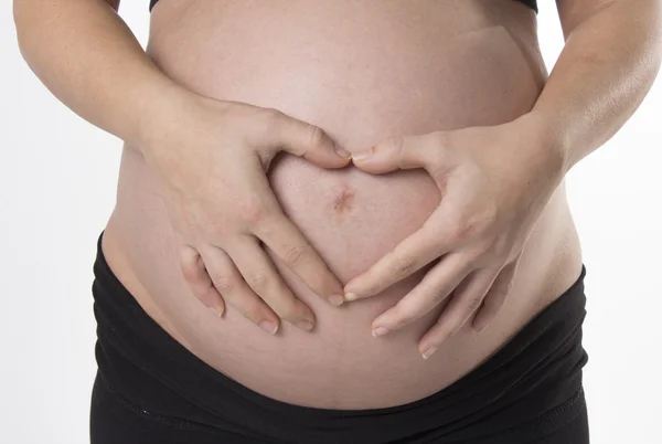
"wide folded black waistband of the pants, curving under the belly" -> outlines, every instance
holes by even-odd
[[[348,411],[280,402],[209,367],[142,310],[110,271],[100,239],[93,284],[99,374],[118,395],[154,414],[257,442],[354,443],[356,431],[365,430],[359,435],[371,441],[361,444],[428,442],[414,438],[424,431],[450,443],[533,426],[581,389],[584,267],[567,292],[456,383],[412,403]],[[563,426],[560,413],[555,426]]]

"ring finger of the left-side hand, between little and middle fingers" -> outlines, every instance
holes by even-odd
[[[215,246],[200,249],[214,287],[226,303],[267,332],[278,330],[278,316],[246,285],[232,258]]]

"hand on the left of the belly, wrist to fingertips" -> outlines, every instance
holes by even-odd
[[[323,168],[344,167],[349,152],[320,128],[274,109],[190,92],[171,103],[153,117],[142,151],[161,178],[194,295],[218,316],[227,303],[271,334],[279,318],[310,330],[312,310],[287,287],[263,243],[334,305],[342,304],[342,286],[282,213],[266,171],[281,150]]]

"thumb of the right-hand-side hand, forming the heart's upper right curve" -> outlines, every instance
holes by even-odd
[[[364,171],[380,175],[397,169],[434,169],[441,155],[441,133],[424,136],[391,137],[370,149],[354,154],[354,165]]]

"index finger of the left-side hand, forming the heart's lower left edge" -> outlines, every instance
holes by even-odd
[[[303,234],[282,212],[256,226],[255,235],[316,294],[333,305],[343,303],[342,285]]]

